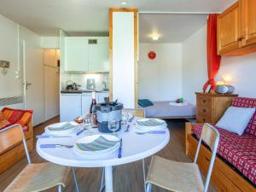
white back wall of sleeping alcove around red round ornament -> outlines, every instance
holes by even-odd
[[[150,50],[156,53],[154,60],[148,59]],[[182,96],[182,45],[139,44],[139,52],[139,98],[170,101]]]

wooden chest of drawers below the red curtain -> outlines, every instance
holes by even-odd
[[[230,107],[236,94],[195,93],[196,122],[217,123],[225,110]]]

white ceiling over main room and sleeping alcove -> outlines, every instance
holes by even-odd
[[[125,0],[0,0],[0,15],[41,36],[56,36],[59,29],[70,34],[108,34],[108,8]],[[236,0],[126,0],[139,11],[219,12]],[[140,40],[182,42],[206,24],[207,15],[140,15]]]

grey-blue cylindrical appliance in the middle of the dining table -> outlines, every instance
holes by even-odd
[[[108,100],[105,100],[108,101]],[[122,120],[122,109],[123,104],[120,102],[102,102],[98,103],[95,106],[96,117],[98,122],[99,131],[110,133],[108,129],[109,122],[119,122],[119,128],[121,129],[121,120]]]

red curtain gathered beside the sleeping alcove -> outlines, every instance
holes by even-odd
[[[215,89],[214,77],[218,73],[221,56],[217,55],[217,14],[210,14],[207,20],[207,68],[208,81],[203,86],[207,89],[208,84],[212,84],[212,90]]]

